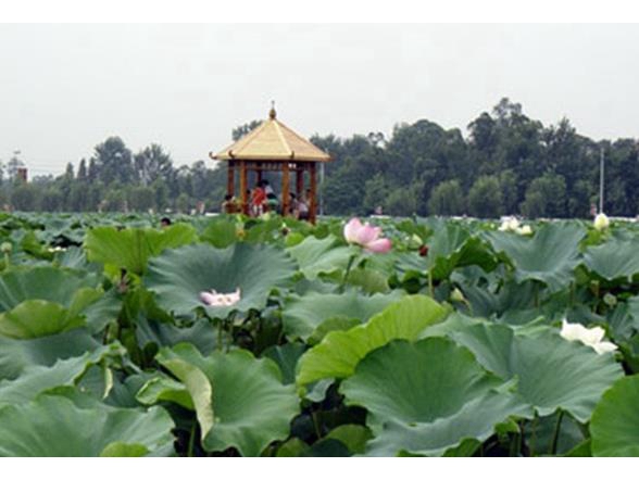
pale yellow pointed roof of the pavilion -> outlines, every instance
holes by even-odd
[[[330,155],[279,122],[275,110],[270,118],[235,143],[211,155],[214,160],[328,162]]]

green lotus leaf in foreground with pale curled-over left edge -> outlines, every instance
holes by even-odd
[[[281,374],[268,358],[250,352],[214,352],[203,357],[187,343],[163,349],[161,363],[180,359],[199,368],[213,389],[213,426],[202,444],[211,452],[236,447],[243,456],[258,456],[273,441],[289,435],[299,413],[292,386],[281,384]]]

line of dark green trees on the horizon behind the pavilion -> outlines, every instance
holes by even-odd
[[[237,127],[239,138],[259,122]],[[467,125],[446,129],[428,119],[399,124],[383,134],[351,138],[314,136],[335,159],[325,165],[323,212],[329,215],[500,215],[587,217],[599,204],[600,156],[605,157],[604,211],[636,216],[639,209],[639,142],[596,141],[579,135],[567,118],[543,126],[522,105],[502,99]],[[278,186],[277,178],[272,179]],[[133,153],[117,137],[96,147],[77,169],[29,184],[2,182],[0,201],[16,210],[172,211],[198,204],[218,211],[226,168],[211,161],[175,167],[152,144]]]

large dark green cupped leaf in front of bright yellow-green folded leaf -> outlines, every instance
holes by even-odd
[[[465,348],[443,338],[394,340],[371,352],[340,391],[368,410],[377,432],[372,455],[442,455],[464,440],[490,437],[496,425],[529,408]]]

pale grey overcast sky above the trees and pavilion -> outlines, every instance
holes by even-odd
[[[302,135],[466,125],[502,97],[639,137],[637,25],[0,25],[0,160],[60,174],[117,135],[177,165],[278,118]]]

